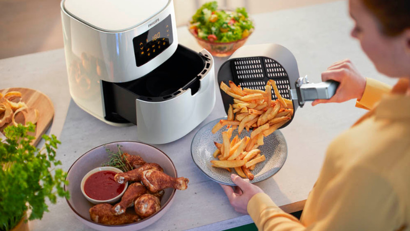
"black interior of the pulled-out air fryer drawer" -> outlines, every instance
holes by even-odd
[[[105,119],[136,124],[136,99],[163,102],[188,88],[195,94],[209,66],[209,58],[179,44],[167,61],[141,78],[125,83],[102,81]]]

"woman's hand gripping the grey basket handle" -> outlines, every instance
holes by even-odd
[[[312,106],[321,103],[342,103],[351,99],[362,98],[366,87],[366,78],[361,76],[350,60],[333,63],[322,73],[322,81],[334,80],[339,87],[334,96],[328,100],[315,100]]]

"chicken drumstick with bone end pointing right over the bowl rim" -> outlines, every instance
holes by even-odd
[[[184,177],[171,177],[162,171],[149,169],[143,171],[142,182],[151,192],[157,192],[167,188],[185,190],[189,180]]]

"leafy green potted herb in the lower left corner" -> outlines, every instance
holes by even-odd
[[[41,219],[48,206],[45,199],[53,204],[57,196],[69,197],[63,185],[66,172],[56,160],[57,144],[55,135],[43,135],[43,148],[31,145],[35,125],[8,126],[4,129],[5,140],[0,141],[0,231],[9,231],[19,222]],[[27,211],[29,211],[27,213]]]

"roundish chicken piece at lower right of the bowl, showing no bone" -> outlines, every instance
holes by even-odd
[[[161,209],[160,199],[152,194],[143,194],[134,203],[135,213],[142,218],[148,217]]]

